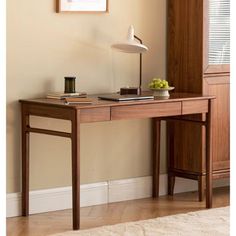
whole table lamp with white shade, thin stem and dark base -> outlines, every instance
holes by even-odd
[[[138,41],[138,42],[137,42]],[[141,94],[142,87],[142,54],[148,51],[148,48],[143,44],[143,41],[134,34],[134,27],[131,25],[128,30],[127,39],[124,42],[116,43],[112,48],[125,53],[139,53],[139,87],[125,87],[120,88],[120,94]]]

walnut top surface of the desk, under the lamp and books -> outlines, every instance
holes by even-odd
[[[150,92],[145,92],[144,94],[152,94]],[[215,99],[215,96],[194,94],[194,93],[171,93],[169,98],[157,98],[146,99],[146,100],[135,100],[135,101],[108,101],[98,99],[97,95],[88,96],[92,98],[93,102],[91,104],[70,104],[66,105],[64,100],[58,99],[48,99],[48,98],[35,98],[35,99],[22,99],[21,103],[24,104],[40,104],[45,106],[53,107],[68,107],[73,109],[88,109],[96,107],[114,107],[114,106],[127,106],[127,105],[140,105],[140,104],[155,104],[155,103],[168,103],[168,102],[182,102],[182,101],[192,101],[192,100],[209,100]]]

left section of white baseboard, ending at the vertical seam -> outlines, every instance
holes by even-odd
[[[81,207],[108,202],[107,182],[80,186]],[[55,188],[30,192],[30,214],[72,208],[72,188]],[[7,194],[7,217],[21,215],[21,193]]]

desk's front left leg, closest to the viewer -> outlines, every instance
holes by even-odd
[[[80,228],[80,111],[75,110],[72,123],[72,202],[73,229]]]

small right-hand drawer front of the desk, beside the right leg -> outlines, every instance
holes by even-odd
[[[198,114],[208,112],[208,100],[184,101],[182,114]]]

